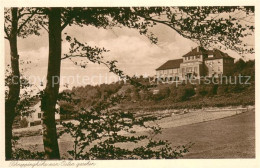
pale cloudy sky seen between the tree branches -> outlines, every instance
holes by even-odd
[[[140,35],[137,30],[129,28],[98,29],[93,26],[70,26],[63,30],[63,34],[67,33],[76,37],[80,42],[110,50],[104,55],[105,59],[117,60],[118,68],[130,76],[154,76],[155,69],[167,60],[182,58],[191,48],[197,46],[196,43],[183,38],[164,25],[155,26],[151,32],[158,37],[158,44],[151,44],[147,37]],[[68,48],[69,44],[64,40],[62,53],[67,53]],[[42,30],[40,36],[32,35],[26,39],[19,38],[18,52],[22,73],[37,86],[41,81],[45,84],[48,64],[47,32]],[[236,59],[241,57],[234,51],[224,52]],[[6,65],[10,63],[9,53],[9,44],[5,40]],[[254,59],[254,55],[249,55],[247,59]],[[109,73],[105,66],[89,63],[87,68],[83,69],[74,65],[70,60],[62,60],[62,88],[66,84],[73,87],[110,83],[117,80],[118,77]]]

